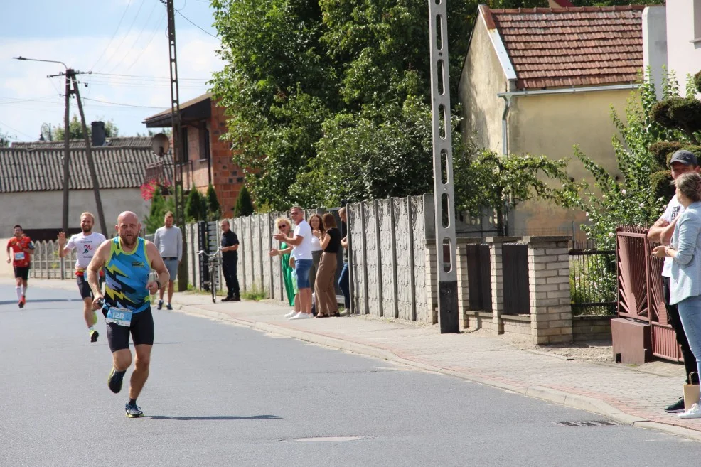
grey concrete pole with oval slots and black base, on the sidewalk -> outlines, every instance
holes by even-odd
[[[428,0],[431,50],[431,110],[433,128],[433,192],[436,223],[436,269],[441,333],[459,333],[458,280],[455,258],[455,205],[453,149],[450,128],[448,80],[447,0]],[[445,174],[446,180],[443,181]],[[445,206],[444,206],[445,203]],[[446,211],[444,212],[444,209]],[[446,218],[447,225],[443,219]],[[444,245],[450,249],[450,269],[443,267]]]

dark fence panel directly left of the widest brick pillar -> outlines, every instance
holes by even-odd
[[[530,314],[528,245],[505,243],[501,247],[504,276],[504,314]]]

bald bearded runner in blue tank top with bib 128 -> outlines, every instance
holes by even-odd
[[[107,323],[107,343],[112,350],[112,371],[107,377],[109,390],[122,390],[124,374],[132,365],[129,334],[134,343],[134,371],[129,384],[129,402],[124,407],[127,417],[143,417],[137,397],[149,377],[151,348],[154,345],[154,317],[151,295],[156,294],[170,278],[168,269],[153,243],[139,237],[141,224],[136,214],[124,211],[117,218],[118,237],[97,248],[87,267],[87,282],[95,299],[92,308],[102,308]],[[100,290],[99,272],[105,267],[105,295]],[[158,278],[149,281],[151,269]]]

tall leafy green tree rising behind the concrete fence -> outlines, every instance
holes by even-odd
[[[449,2],[454,92],[477,4]],[[368,160],[370,152],[380,154],[384,143],[377,140],[390,135],[400,146],[392,151],[394,162],[425,165],[426,133],[400,134],[415,123],[405,107],[430,104],[425,1],[214,0],[213,6],[220,55],[228,63],[215,73],[213,90],[227,107],[225,137],[237,148],[235,162],[245,170],[256,205],[312,205],[326,197],[320,190],[343,190],[323,181],[328,171],[314,160],[321,151],[335,158],[347,152],[344,146],[357,145],[346,130],[353,122],[378,145],[366,152]],[[333,136],[326,137],[327,129]],[[378,167],[382,162],[374,160]],[[362,193],[373,193],[384,175],[378,171]],[[424,186],[415,184],[411,193]],[[409,194],[401,186],[387,193]]]

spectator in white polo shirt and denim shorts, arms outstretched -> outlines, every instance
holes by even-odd
[[[290,319],[311,318],[311,283],[309,281],[309,269],[311,269],[311,227],[309,222],[304,220],[304,210],[299,206],[294,206],[289,212],[294,227],[292,237],[287,237],[282,232],[273,235],[275,240],[291,245],[294,250],[294,274],[297,279],[297,289],[299,289],[300,311]]]

